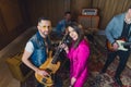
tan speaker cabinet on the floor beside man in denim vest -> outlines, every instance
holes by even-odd
[[[24,82],[33,73],[29,67],[22,63],[22,54],[23,53],[19,53],[5,61],[13,77],[20,82]]]

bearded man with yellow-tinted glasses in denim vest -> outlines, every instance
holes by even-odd
[[[37,24],[38,32],[27,41],[22,57],[25,65],[32,69],[35,74],[45,77],[49,75],[46,70],[40,70],[39,66],[48,60],[48,51],[50,47],[50,39],[48,37],[51,29],[51,22],[46,17],[39,17]],[[46,82],[43,79],[41,82]],[[55,87],[62,87],[61,82],[55,80]],[[38,83],[37,87],[45,87],[45,84]],[[46,86],[47,87],[47,86]],[[50,87],[50,86],[48,86]]]

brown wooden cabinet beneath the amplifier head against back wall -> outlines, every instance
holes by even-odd
[[[80,15],[78,22],[84,29],[98,28],[99,16],[98,15]]]

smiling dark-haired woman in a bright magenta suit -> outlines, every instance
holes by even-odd
[[[70,87],[83,87],[88,76],[87,60],[90,57],[90,46],[84,37],[83,29],[76,24],[68,25],[68,33],[71,37],[71,45],[61,47],[70,59]]]

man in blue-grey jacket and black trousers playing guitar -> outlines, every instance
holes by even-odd
[[[107,44],[108,58],[100,73],[106,73],[107,67],[118,55],[119,65],[116,70],[115,82],[122,87],[120,74],[126,67],[130,54],[129,48],[131,47],[131,44],[128,44],[124,48],[126,42],[131,42],[131,7],[126,13],[112,17],[106,27],[106,37],[112,49],[110,50],[109,44]]]

